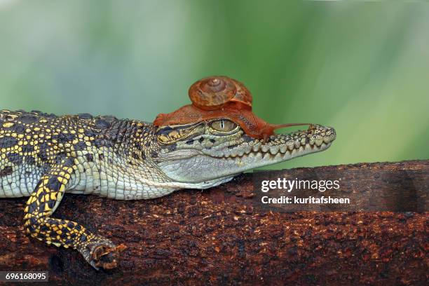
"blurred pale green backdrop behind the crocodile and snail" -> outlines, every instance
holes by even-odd
[[[427,1],[0,0],[0,108],[153,121],[243,81],[271,123],[336,128],[272,168],[429,158]]]

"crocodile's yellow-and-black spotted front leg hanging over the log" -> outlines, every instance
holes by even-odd
[[[118,264],[118,251],[123,246],[97,236],[80,224],[65,219],[50,217],[60,204],[67,182],[73,172],[74,160],[67,158],[53,165],[41,177],[25,207],[25,229],[30,236],[57,247],[79,250],[95,269],[110,269]]]

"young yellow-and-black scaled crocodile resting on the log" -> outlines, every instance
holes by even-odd
[[[64,193],[117,200],[207,189],[265,165],[327,149],[333,128],[254,139],[226,118],[157,127],[90,114],[0,111],[0,198],[29,197],[26,233],[78,250],[95,269],[115,268],[123,245],[55,219]]]

